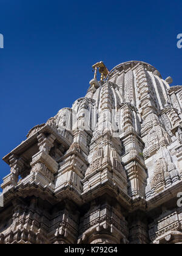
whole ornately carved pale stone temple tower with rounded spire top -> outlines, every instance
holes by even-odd
[[[93,69],[4,157],[1,244],[182,243],[182,86],[144,62]]]

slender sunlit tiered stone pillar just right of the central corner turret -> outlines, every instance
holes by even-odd
[[[146,167],[143,158],[144,143],[133,127],[132,105],[123,105],[124,133],[121,137],[124,146],[122,162],[128,178],[129,195],[135,199],[145,196]]]

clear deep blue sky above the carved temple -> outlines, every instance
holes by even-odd
[[[1,158],[84,96],[95,62],[143,60],[182,84],[179,0],[0,0],[0,10]],[[0,180],[9,170],[1,160]]]

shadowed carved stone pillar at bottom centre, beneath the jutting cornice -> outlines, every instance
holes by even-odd
[[[127,222],[121,207],[113,199],[102,197],[91,202],[90,209],[81,218],[79,244],[128,243]]]

